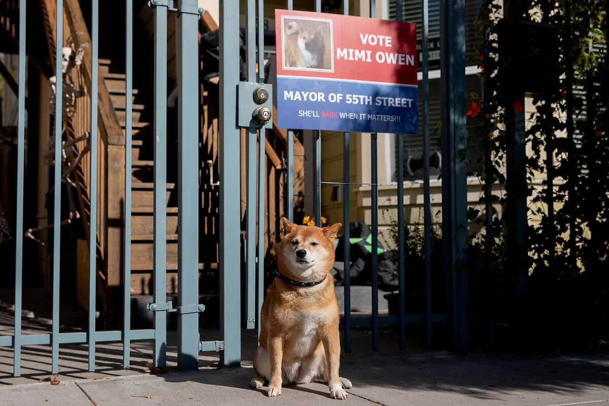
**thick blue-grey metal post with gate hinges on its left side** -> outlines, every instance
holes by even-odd
[[[181,0],[180,10],[198,9]],[[199,16],[178,15],[178,368],[199,368]]]

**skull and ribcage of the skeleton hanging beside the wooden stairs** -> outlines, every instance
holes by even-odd
[[[62,49],[62,119],[71,118],[76,110],[76,99],[77,97],[85,96],[85,92],[82,84],[82,75],[80,74],[80,65],[82,65],[82,58],[85,55],[85,47],[88,44],[83,44],[74,51],[72,47],[72,40],[68,38],[68,43]],[[72,71],[76,68],[77,83],[72,78]],[[52,76],[49,79],[51,82],[51,113],[55,113],[55,95],[57,94],[56,83],[57,78]],[[77,88],[78,86],[78,88]]]

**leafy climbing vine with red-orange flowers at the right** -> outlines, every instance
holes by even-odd
[[[502,86],[504,5],[520,21],[557,27],[558,81],[529,102]],[[527,233],[530,311],[535,345],[544,351],[609,345],[609,64],[606,1],[484,1],[476,29],[484,94],[468,95],[466,115],[480,145],[470,162],[482,183],[468,217],[481,232],[470,250],[496,319],[510,320],[516,271],[507,264],[510,134],[507,108],[526,111]],[[530,106],[532,105],[532,108]],[[509,106],[506,108],[506,106]],[[492,187],[490,187],[492,185]],[[507,188],[506,188],[507,187]],[[492,204],[487,212],[487,201]],[[490,218],[488,218],[488,217]],[[476,262],[474,261],[474,262]]]

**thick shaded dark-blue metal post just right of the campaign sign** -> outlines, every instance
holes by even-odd
[[[442,213],[446,277],[451,281],[454,348],[468,348],[467,295],[467,147],[465,130],[465,0],[445,2],[442,29],[443,156]],[[448,281],[448,279],[447,279]]]

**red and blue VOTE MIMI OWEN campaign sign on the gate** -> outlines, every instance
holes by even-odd
[[[418,134],[415,24],[275,10],[281,128]]]

